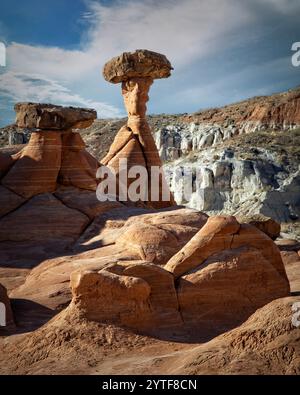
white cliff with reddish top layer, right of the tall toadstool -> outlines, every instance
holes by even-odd
[[[176,202],[214,215],[299,220],[299,103],[298,88],[161,126],[156,121],[156,145]],[[183,169],[193,177],[187,196]]]

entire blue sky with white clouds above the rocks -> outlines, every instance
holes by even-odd
[[[123,116],[120,86],[101,70],[112,56],[146,48],[174,71],[155,81],[149,113],[183,113],[300,84],[291,46],[299,0],[1,0],[0,126],[17,101],[96,108]]]

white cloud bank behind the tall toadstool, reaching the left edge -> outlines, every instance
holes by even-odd
[[[1,75],[2,95],[15,101],[93,105],[99,116],[116,116],[122,110],[107,105],[100,90],[101,69],[111,56],[147,48],[165,53],[176,68],[182,68],[217,50],[228,34],[252,17],[237,0],[221,4],[217,0],[129,0],[111,6],[88,1],[87,5],[83,15],[88,23],[87,32],[80,49],[20,43],[8,46],[8,71]],[[226,22],[229,18],[230,23]],[[96,81],[95,75],[99,76]],[[98,83],[97,97],[95,94],[93,98],[87,97],[87,93],[82,97],[76,91],[79,81],[93,91]]]

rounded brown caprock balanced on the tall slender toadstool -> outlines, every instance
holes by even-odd
[[[147,49],[124,52],[112,58],[103,69],[103,76],[108,82],[117,84],[130,78],[168,78],[173,67],[165,55]]]

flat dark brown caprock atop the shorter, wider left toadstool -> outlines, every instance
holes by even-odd
[[[17,126],[27,129],[84,129],[97,118],[95,110],[53,104],[17,103],[15,111]]]

